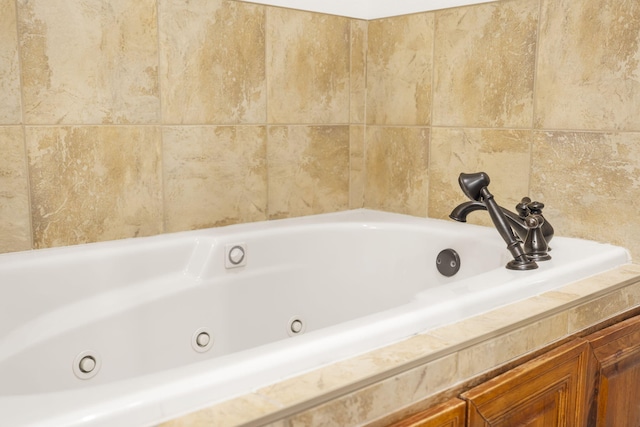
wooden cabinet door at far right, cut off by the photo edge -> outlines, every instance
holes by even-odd
[[[597,414],[590,425],[640,426],[640,317],[587,339],[600,362]]]

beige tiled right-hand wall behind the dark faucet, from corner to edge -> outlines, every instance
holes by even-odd
[[[505,207],[529,195],[557,233],[640,254],[638,34],[640,3],[618,0],[371,21],[365,206],[446,218],[464,200],[457,175],[482,170]]]

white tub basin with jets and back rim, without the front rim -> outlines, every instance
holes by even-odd
[[[0,256],[0,395],[100,385],[296,339],[292,322],[308,335],[508,260],[485,227],[321,217]],[[227,269],[238,243],[247,264]],[[435,268],[446,248],[461,258],[453,277]],[[202,331],[205,351],[194,343]],[[74,374],[87,351],[99,363],[90,379]]]

